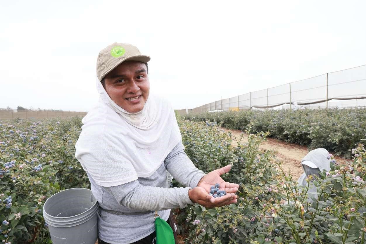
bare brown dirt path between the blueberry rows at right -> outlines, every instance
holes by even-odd
[[[227,128],[221,129],[223,129],[225,132],[231,131],[232,135],[235,136],[235,138],[237,138],[238,140],[240,139],[240,134],[242,133],[242,131]],[[242,142],[240,142],[240,144],[246,142],[248,142],[248,135],[244,134]],[[232,145],[237,146],[235,139],[233,140]],[[273,138],[267,138],[267,140],[262,143],[261,148],[265,150],[277,151],[276,158],[282,162],[282,168],[284,172],[288,173],[290,171],[292,176],[294,177],[294,180],[298,179],[301,174],[304,173],[300,162],[301,159],[305,157],[305,155],[308,153],[306,146],[294,143],[287,143]],[[345,159],[343,157],[336,156],[335,158],[340,164],[350,162],[349,159]]]

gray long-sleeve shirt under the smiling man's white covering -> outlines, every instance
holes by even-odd
[[[167,171],[185,187],[168,188]],[[99,238],[108,243],[133,243],[155,231],[154,211],[164,220],[170,209],[193,204],[188,197],[188,189],[197,186],[205,175],[198,170],[184,152],[182,142],[168,154],[160,167],[147,178],[117,185],[102,187],[97,185],[87,173],[91,191],[103,209],[124,213],[152,211],[148,214],[116,215],[98,210]]]

